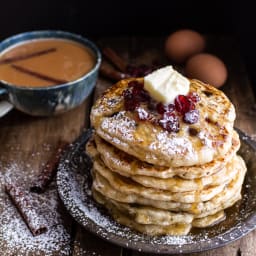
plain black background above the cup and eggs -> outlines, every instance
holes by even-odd
[[[40,29],[67,30],[91,39],[166,36],[180,28],[231,35],[240,45],[256,87],[256,12],[250,2],[253,1],[1,0],[0,39]]]

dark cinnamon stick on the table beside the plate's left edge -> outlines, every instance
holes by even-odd
[[[31,192],[43,193],[48,185],[53,180],[57,172],[57,167],[60,161],[61,154],[68,145],[65,141],[60,141],[58,143],[57,149],[54,154],[51,156],[46,165],[42,168],[39,175],[36,177],[33,185],[30,187]]]

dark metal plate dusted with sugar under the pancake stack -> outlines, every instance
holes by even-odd
[[[207,229],[194,229],[187,236],[152,237],[119,225],[91,196],[91,161],[84,146],[92,131],[87,130],[69,146],[57,173],[60,198],[77,222],[90,232],[122,247],[137,251],[178,254],[209,250],[239,239],[256,227],[256,142],[238,130],[242,142],[239,154],[248,172],[243,199],[227,210],[224,222]]]

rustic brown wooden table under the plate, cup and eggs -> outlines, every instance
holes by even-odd
[[[163,54],[163,39],[159,38],[104,38],[100,45],[114,48],[132,63],[150,64],[157,60],[167,64]],[[236,126],[255,138],[255,97],[235,40],[209,37],[207,51],[217,54],[227,64],[229,78],[222,89],[237,110]],[[89,125],[92,100],[111,85],[100,78],[94,97],[78,108],[49,118],[30,117],[16,110],[0,120],[0,250],[1,255],[90,255],[90,256],[146,256],[107,243],[75,223],[66,212],[56,193],[55,183],[39,196],[42,209],[52,220],[52,230],[33,238],[11,205],[3,190],[3,175],[12,175],[29,186],[39,169],[55,150],[60,139],[72,142],[83,127]],[[57,214],[56,214],[57,212]],[[239,241],[213,251],[197,253],[201,256],[254,256],[256,231]]]

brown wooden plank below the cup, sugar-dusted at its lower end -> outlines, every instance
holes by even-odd
[[[62,139],[72,142],[85,122],[85,104],[56,117],[30,117],[12,111],[0,119],[0,250],[1,255],[69,255],[70,216],[58,199],[55,182],[42,195],[33,195],[49,231],[33,237],[4,193],[4,175],[29,187],[40,167]]]

